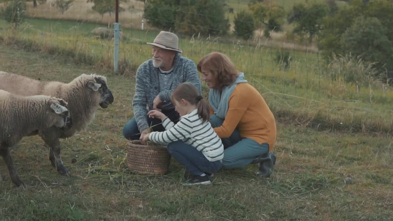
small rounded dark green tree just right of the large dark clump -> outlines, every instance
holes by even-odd
[[[254,35],[255,22],[252,15],[246,11],[241,11],[235,15],[235,34],[242,39],[249,39]]]

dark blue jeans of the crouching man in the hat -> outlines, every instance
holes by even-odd
[[[177,123],[179,121],[180,115],[174,110],[162,110],[162,113],[165,114],[173,123]],[[165,128],[162,126],[162,122],[157,118],[149,118],[146,116],[147,124],[152,126],[153,131],[165,131]],[[138,125],[136,123],[135,118],[132,118],[129,122],[126,123],[123,127],[123,136],[128,140],[139,140],[142,131],[139,131]]]

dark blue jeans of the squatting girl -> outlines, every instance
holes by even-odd
[[[209,161],[202,152],[181,140],[168,144],[168,152],[180,164],[185,166],[191,174],[196,176],[203,173],[215,173],[222,166],[219,160],[215,162]]]

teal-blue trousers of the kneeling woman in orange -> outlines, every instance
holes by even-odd
[[[209,122],[213,128],[220,127],[224,123],[224,119],[213,114],[210,116]],[[224,159],[222,160],[222,168],[224,169],[246,166],[256,157],[269,152],[269,144],[259,144],[250,138],[242,138],[237,129],[229,138],[221,140],[224,145]]]

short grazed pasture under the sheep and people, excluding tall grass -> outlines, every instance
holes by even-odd
[[[24,138],[12,149],[28,189],[13,186],[2,161],[4,221],[380,221],[393,215],[391,138],[320,132],[277,116],[272,177],[257,178],[257,166],[250,165],[221,170],[210,186],[185,188],[180,184],[183,168],[175,160],[167,175],[127,171],[121,129],[132,116],[134,77],[114,76],[102,68],[10,44],[0,45],[0,57],[0,70],[35,79],[68,82],[82,73],[104,74],[115,98],[108,109],[97,111],[86,131],[62,140],[63,161],[72,177],[51,167],[48,149],[38,136]],[[72,164],[72,158],[77,163]],[[345,182],[347,177],[353,183]]]

